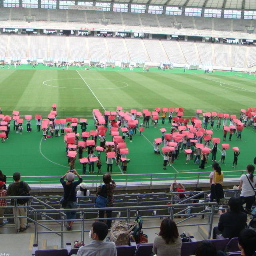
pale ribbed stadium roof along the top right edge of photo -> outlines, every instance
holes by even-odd
[[[103,2],[126,2],[132,4],[159,4],[179,7],[226,8],[255,10],[255,0],[97,0]]]

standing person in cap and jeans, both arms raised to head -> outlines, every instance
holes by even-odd
[[[74,182],[74,178],[76,176],[79,178],[79,180]],[[67,181],[64,180],[64,178],[67,179]],[[60,183],[62,184],[64,188],[64,200],[66,201],[66,206],[64,206],[65,209],[75,209],[77,208],[76,203],[76,187],[83,181],[81,176],[76,172],[76,169],[74,170],[68,170],[66,174],[64,174],[60,178]],[[76,218],[76,211],[74,212],[65,212],[67,215],[67,220],[74,220]],[[74,221],[68,221],[67,230],[72,230]]]

